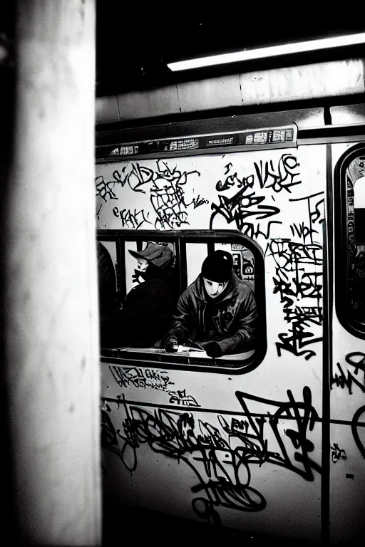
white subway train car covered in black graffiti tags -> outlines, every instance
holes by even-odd
[[[365,131],[311,128],[311,115],[97,135],[110,506],[277,538],[364,538]],[[217,250],[255,301],[255,335],[210,355],[188,333],[168,351],[180,295]],[[151,263],[168,263],[173,289],[130,305]],[[235,338],[232,313],[222,338]]]

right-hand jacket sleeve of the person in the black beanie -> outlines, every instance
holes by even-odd
[[[255,347],[257,331],[257,306],[254,293],[247,287],[242,297],[235,320],[235,333],[229,338],[217,340],[222,354],[240,353]]]

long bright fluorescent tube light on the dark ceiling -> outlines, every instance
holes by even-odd
[[[235,63],[236,61],[249,61],[251,59],[288,55],[289,53],[302,53],[304,51],[315,51],[319,49],[355,46],[359,43],[365,43],[365,33],[336,36],[335,38],[321,38],[319,40],[309,40],[307,42],[286,43],[282,46],[270,46],[268,48],[236,51],[235,53],[222,53],[222,55],[168,63],[168,67],[172,71],[187,71],[190,68],[223,65],[225,63]]]

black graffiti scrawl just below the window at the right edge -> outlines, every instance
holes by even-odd
[[[346,388],[352,395],[354,387],[365,393],[365,354],[353,351],[345,357],[345,363],[336,363],[336,370],[331,370],[331,387]]]

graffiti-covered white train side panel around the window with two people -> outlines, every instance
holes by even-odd
[[[100,153],[98,239],[110,249],[122,306],[138,283],[130,251],[169,245],[183,292],[205,256],[224,248],[251,283],[260,318],[253,352],[213,359],[189,345],[176,355],[160,343],[102,349],[104,489],[113,506],[322,536],[328,155],[325,145],[297,147],[294,133]]]

